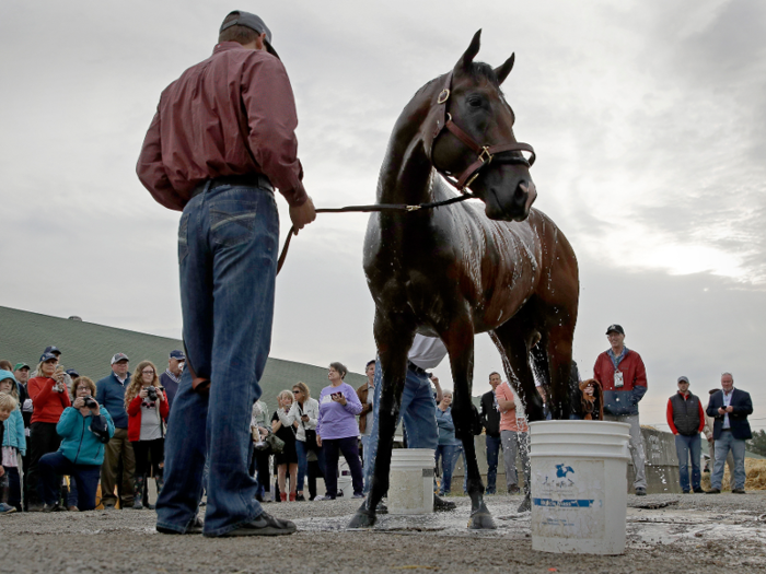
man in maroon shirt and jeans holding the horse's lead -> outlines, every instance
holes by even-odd
[[[156,504],[164,534],[200,530],[202,469],[209,464],[205,536],[281,535],[248,473],[249,420],[271,340],[279,219],[274,188],[295,229],[316,214],[303,189],[292,89],[255,14],[230,13],[207,60],[167,86],[137,173],[178,226],[186,366],[165,442]]]

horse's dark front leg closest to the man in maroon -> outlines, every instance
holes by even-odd
[[[376,520],[376,509],[388,491],[391,470],[391,452],[394,448],[394,433],[399,420],[402,393],[407,376],[407,351],[411,347],[415,332],[397,331],[388,320],[385,323],[375,316],[375,341],[379,349],[376,368],[381,370],[380,400],[373,407],[371,445],[376,441],[376,450],[372,452],[370,465],[373,466],[372,482],[367,500],[357,509],[348,528],[371,528]],[[378,390],[378,389],[376,389]]]

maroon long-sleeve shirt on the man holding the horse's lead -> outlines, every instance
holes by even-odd
[[[197,184],[254,173],[301,206],[307,196],[297,126],[282,62],[223,42],[162,92],[136,173],[158,202],[178,211]]]

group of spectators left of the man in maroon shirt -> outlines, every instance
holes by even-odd
[[[162,489],[170,393],[184,355],[173,351],[163,388],[156,367],[116,353],[97,383],[63,370],[48,347],[34,368],[0,361],[0,514],[19,511],[153,508],[148,477]],[[175,384],[173,386],[173,384]],[[101,492],[101,495],[98,495]]]

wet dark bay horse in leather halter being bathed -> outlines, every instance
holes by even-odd
[[[364,272],[375,302],[383,379],[380,443],[371,491],[351,528],[375,523],[388,488],[407,352],[416,332],[441,338],[450,355],[453,419],[468,462],[471,528],[495,528],[483,501],[472,434],[474,335],[489,332],[531,421],[544,418],[531,358],[547,379],[554,417],[569,412],[577,259],[554,222],[532,209],[534,152],[517,142],[513,112],[500,90],[513,56],[497,69],[474,62],[479,36],[480,31],[450,73],[426,84],[407,104],[381,168],[379,203],[454,197],[439,173],[460,189],[469,185],[484,210],[463,202],[370,218]]]

